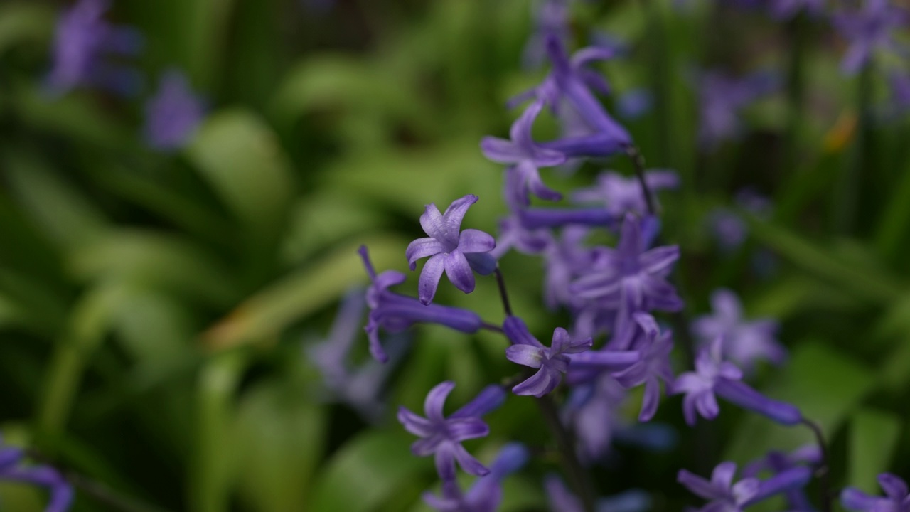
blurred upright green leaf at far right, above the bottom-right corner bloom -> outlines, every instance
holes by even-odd
[[[895,458],[901,418],[893,413],[861,409],[850,422],[850,463],[848,483],[870,494],[878,494],[876,476],[885,473]]]

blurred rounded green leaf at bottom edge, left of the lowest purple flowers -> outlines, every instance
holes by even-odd
[[[307,509],[367,512],[379,507],[428,469],[429,459],[410,454],[412,441],[399,429],[358,435],[324,467]]]

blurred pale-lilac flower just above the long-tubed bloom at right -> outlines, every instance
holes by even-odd
[[[746,373],[758,361],[783,364],[786,349],[776,339],[778,323],[771,319],[746,321],[739,298],[730,290],[715,290],[711,294],[713,314],[696,318],[692,333],[703,344],[723,339],[723,357],[733,361]]]

